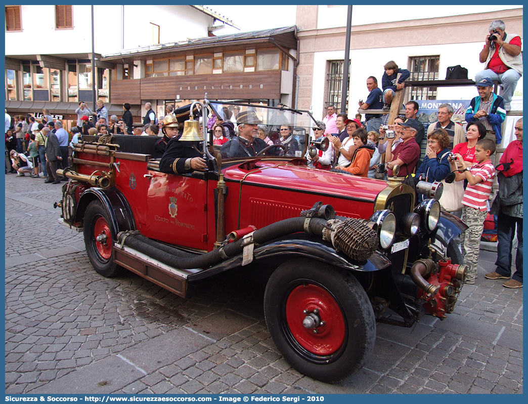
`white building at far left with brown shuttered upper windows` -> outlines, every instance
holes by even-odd
[[[121,115],[121,105],[111,100],[110,82],[116,77],[139,77],[139,70],[134,63],[116,67],[102,61],[103,54],[201,38],[219,29],[219,23],[234,26],[202,6],[95,5],[93,75],[90,5],[6,5],[7,111],[38,115],[48,108],[71,118],[80,101],[91,107],[101,99],[111,104],[107,104],[110,113]],[[140,115],[139,105],[132,111]]]

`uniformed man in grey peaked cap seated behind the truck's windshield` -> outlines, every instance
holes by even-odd
[[[222,145],[222,157],[251,157],[265,149],[268,144],[257,137],[257,125],[261,124],[254,111],[244,111],[237,115],[237,136]]]

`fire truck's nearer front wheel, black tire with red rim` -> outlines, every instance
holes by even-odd
[[[304,328],[303,310],[318,308],[324,326]],[[296,259],[271,275],[264,296],[266,323],[285,359],[307,376],[334,383],[361,369],[372,352],[372,305],[351,274],[321,262]],[[299,325],[300,324],[300,325]]]

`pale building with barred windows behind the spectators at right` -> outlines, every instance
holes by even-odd
[[[354,6],[355,7],[355,6]],[[412,9],[412,7],[411,7]],[[474,79],[484,65],[478,54],[484,47],[489,24],[506,23],[506,32],[523,38],[523,9],[475,13],[426,19],[361,24],[361,15],[352,20],[350,82],[347,113],[357,113],[359,99],[369,91],[366,79],[374,76],[381,88],[383,66],[394,60],[411,71],[411,80],[444,80],[447,68],[461,65]],[[315,117],[325,116],[329,104],[341,103],[347,6],[297,6],[299,38],[298,108],[313,108]],[[357,12],[356,12],[357,13]],[[339,16],[339,17],[336,17]],[[383,17],[381,17],[382,19]],[[342,21],[342,26],[335,26]],[[517,83],[512,109],[522,109],[523,79]],[[414,87],[407,99],[471,99],[475,87]]]

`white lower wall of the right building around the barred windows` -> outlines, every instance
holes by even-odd
[[[321,7],[321,6],[320,6]],[[366,79],[374,76],[378,79],[381,88],[383,66],[389,60],[394,60],[400,68],[408,68],[409,57],[440,55],[439,78],[446,78],[449,66],[460,65],[468,69],[468,78],[474,79],[477,71],[484,65],[478,62],[478,53],[482,50],[482,42],[445,45],[423,45],[414,47],[395,47],[379,49],[351,50],[350,52],[350,94],[348,98],[348,115],[357,113],[357,102],[361,98],[366,100],[369,91],[366,88]],[[314,54],[314,70],[312,82],[313,111],[323,111],[326,94],[324,83],[325,71],[328,60],[343,60],[344,51],[316,52]],[[523,78],[517,83],[517,98],[522,98]],[[471,99],[475,97],[475,87],[439,87],[437,99]],[[515,100],[515,99],[514,99]],[[521,108],[520,108],[521,109]]]

